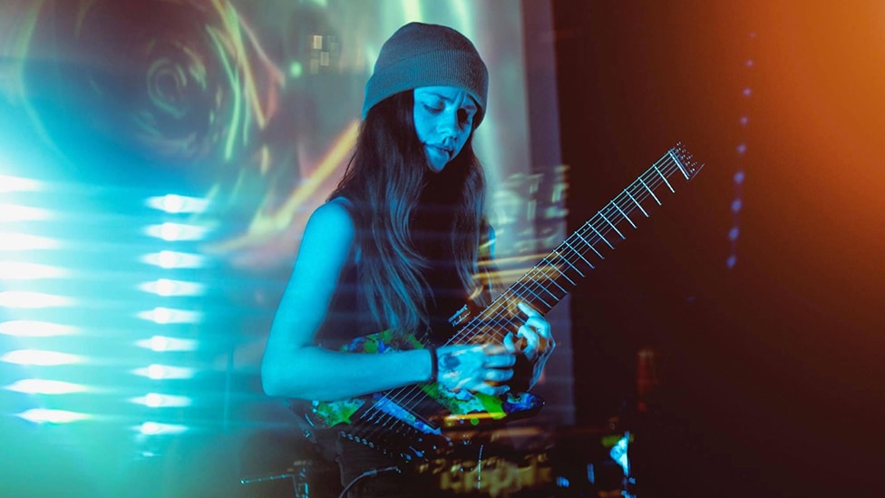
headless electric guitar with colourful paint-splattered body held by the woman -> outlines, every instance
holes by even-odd
[[[520,325],[515,303],[524,301],[546,314],[606,259],[630,229],[675,193],[677,181],[690,181],[704,167],[681,143],[587,220],[556,249],[481,310],[464,307],[458,331],[446,344],[501,343]],[[344,351],[384,354],[423,348],[414,336],[384,331],[356,338]],[[544,405],[530,393],[501,396],[453,393],[438,384],[406,386],[335,402],[293,401],[293,409],[316,429],[341,426],[345,437],[405,463],[427,462],[453,446],[446,432],[472,429],[535,415]]]

